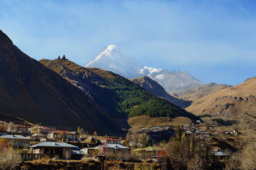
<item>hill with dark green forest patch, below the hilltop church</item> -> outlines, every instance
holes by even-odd
[[[111,117],[182,115],[195,118],[179,106],[157,98],[132,81],[113,72],[85,68],[69,60],[41,60],[40,62],[89,94]]]

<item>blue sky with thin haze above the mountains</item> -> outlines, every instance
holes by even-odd
[[[0,29],[41,60],[116,44],[148,67],[237,85],[255,76],[256,1],[0,1]]]

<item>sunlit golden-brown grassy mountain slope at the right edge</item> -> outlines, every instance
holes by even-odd
[[[255,107],[256,78],[250,78],[235,87],[227,87],[196,99],[186,110],[196,115],[241,118],[246,110]]]

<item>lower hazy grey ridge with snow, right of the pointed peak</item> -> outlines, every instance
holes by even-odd
[[[203,84],[187,71],[170,72],[166,69],[154,69],[144,66],[144,69],[140,69],[140,74],[149,76],[152,80],[157,81],[167,92],[195,89]]]

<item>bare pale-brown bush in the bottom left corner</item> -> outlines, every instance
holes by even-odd
[[[0,169],[15,169],[21,163],[21,155],[14,149],[1,149],[0,151]]]

